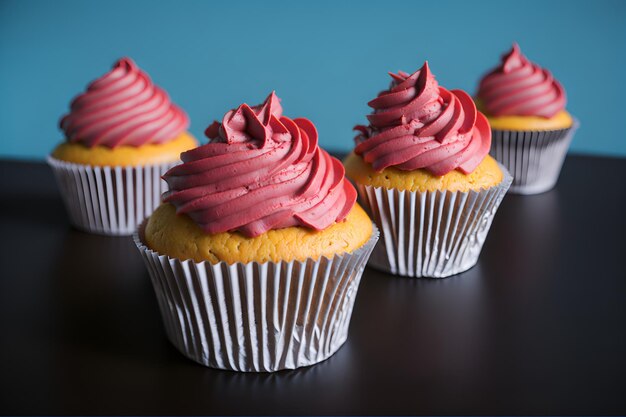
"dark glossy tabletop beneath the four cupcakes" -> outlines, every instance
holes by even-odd
[[[217,371],[166,340],[131,238],[73,230],[43,163],[0,162],[1,414],[625,414],[626,159],[507,196],[461,275],[366,269],[328,361]]]

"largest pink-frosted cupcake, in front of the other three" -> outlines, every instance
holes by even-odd
[[[206,129],[139,228],[169,340],[213,368],[272,372],[345,342],[378,232],[341,163],[274,93]]]

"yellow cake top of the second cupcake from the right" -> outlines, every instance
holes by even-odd
[[[479,190],[497,185],[502,181],[498,163],[487,155],[470,174],[452,170],[437,177],[425,169],[402,171],[389,167],[376,172],[370,164],[354,152],[344,160],[346,175],[352,181],[373,187],[395,188],[405,191],[462,191]]]

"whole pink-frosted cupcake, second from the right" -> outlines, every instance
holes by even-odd
[[[511,177],[488,155],[489,123],[467,93],[440,87],[428,63],[390,75],[345,160],[381,231],[370,264],[409,277],[463,272],[478,261]]]

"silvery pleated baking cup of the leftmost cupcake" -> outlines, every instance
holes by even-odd
[[[103,235],[132,235],[161,203],[161,176],[176,162],[144,166],[91,166],[47,159],[70,222]]]

